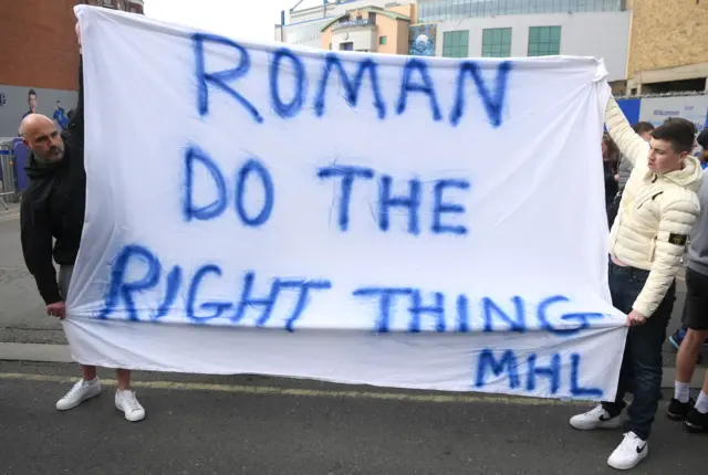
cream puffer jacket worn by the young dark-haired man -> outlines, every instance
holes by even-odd
[[[650,317],[676,277],[700,211],[697,191],[702,170],[698,160],[689,156],[683,170],[652,172],[647,166],[649,145],[632,129],[613,97],[607,104],[605,125],[634,165],[610,233],[610,253],[632,267],[649,271],[633,308]]]

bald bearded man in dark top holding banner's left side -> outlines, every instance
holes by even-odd
[[[52,119],[40,114],[30,114],[20,124],[23,142],[32,152],[25,167],[30,182],[20,209],[22,253],[46,313],[60,319],[66,316],[64,299],[79,254],[86,204],[83,66],[79,77],[79,105],[62,135]],[[59,279],[52,258],[59,264]],[[73,409],[101,393],[96,367],[82,366],[81,370],[83,378],[59,400],[58,410]],[[131,372],[118,369],[117,377],[116,408],[128,421],[144,419],[145,410],[131,391]]]

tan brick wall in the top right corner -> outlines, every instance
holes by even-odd
[[[708,62],[708,0],[634,0],[628,77]]]

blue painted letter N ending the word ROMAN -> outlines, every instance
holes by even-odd
[[[511,67],[512,63],[510,61],[504,61],[497,67],[497,85],[494,87],[494,96],[492,97],[485,80],[482,80],[479,64],[475,61],[461,63],[460,71],[457,75],[457,96],[455,98],[455,106],[452,106],[452,110],[450,112],[450,124],[457,126],[465,114],[467,106],[465,101],[465,78],[467,77],[467,73],[469,73],[472,80],[475,80],[477,94],[482,99],[489,122],[493,127],[499,127],[501,125]]]

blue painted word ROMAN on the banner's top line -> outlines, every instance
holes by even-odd
[[[220,45],[233,50],[238,54],[238,62],[233,67],[222,71],[207,71],[207,45]],[[251,70],[251,53],[247,48],[227,38],[195,33],[192,35],[192,48],[195,52],[195,76],[197,84],[197,109],[200,116],[209,114],[209,91],[220,89],[231,96],[246,109],[249,116],[258,124],[263,122],[263,115],[251,99],[237,89],[239,80],[246,77]],[[385,119],[388,114],[388,104],[382,95],[378,80],[378,63],[366,57],[356,61],[354,57],[342,60],[343,56],[336,53],[327,53],[317,59],[321,62],[320,74],[314,82],[314,96],[312,106],[314,114],[322,117],[326,112],[327,91],[334,83],[331,77],[337,74],[344,88],[344,97],[351,107],[356,107],[358,96],[363,87],[365,77],[368,77],[371,91],[373,93],[373,107],[379,119]],[[354,72],[347,72],[344,64],[354,64]],[[402,115],[408,107],[408,96],[419,94],[427,97],[433,120],[442,120],[440,102],[437,95],[436,84],[430,77],[428,62],[426,60],[412,57],[402,68],[398,97],[394,103],[394,112]],[[476,61],[461,61],[458,66],[456,95],[451,109],[448,114],[448,122],[451,126],[457,126],[467,109],[467,82],[472,80],[473,91],[480,98],[489,123],[492,127],[502,124],[502,112],[507,98],[507,86],[512,63],[501,62],[497,67],[493,93],[482,78],[481,68]],[[281,71],[285,71],[281,73]],[[280,84],[282,81],[292,81],[294,93],[290,98],[283,98]],[[308,68],[296,53],[288,48],[275,50],[269,57],[269,97],[270,108],[281,118],[289,119],[296,117],[303,109],[309,109],[308,103],[309,85],[313,82],[308,77]],[[337,95],[340,95],[337,93]],[[334,95],[331,95],[334,96]]]

